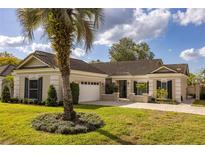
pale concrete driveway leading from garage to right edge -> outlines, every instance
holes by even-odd
[[[137,109],[150,109],[150,110],[160,110],[160,111],[173,111],[182,113],[192,113],[205,115],[205,107],[195,107],[190,104],[154,104],[154,103],[128,103],[128,102],[111,102],[111,101],[96,101],[96,102],[86,102],[81,104],[91,104],[91,105],[103,105],[103,106],[119,106],[127,108],[137,108]]]

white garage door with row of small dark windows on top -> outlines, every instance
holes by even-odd
[[[81,82],[79,102],[96,101],[100,99],[100,86],[97,82]]]

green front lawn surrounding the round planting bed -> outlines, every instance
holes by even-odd
[[[106,125],[87,134],[59,135],[36,131],[37,115],[61,107],[0,103],[0,144],[205,144],[205,116],[103,106],[75,106],[94,112]]]

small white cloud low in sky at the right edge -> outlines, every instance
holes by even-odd
[[[180,53],[180,57],[186,61],[196,60],[197,58],[205,57],[205,47],[202,47],[200,49],[186,49]]]

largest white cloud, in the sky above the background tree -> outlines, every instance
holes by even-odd
[[[166,30],[170,17],[167,9],[135,9],[130,24],[118,24],[100,33],[94,43],[111,45],[122,37],[131,37],[135,41],[156,38]]]

